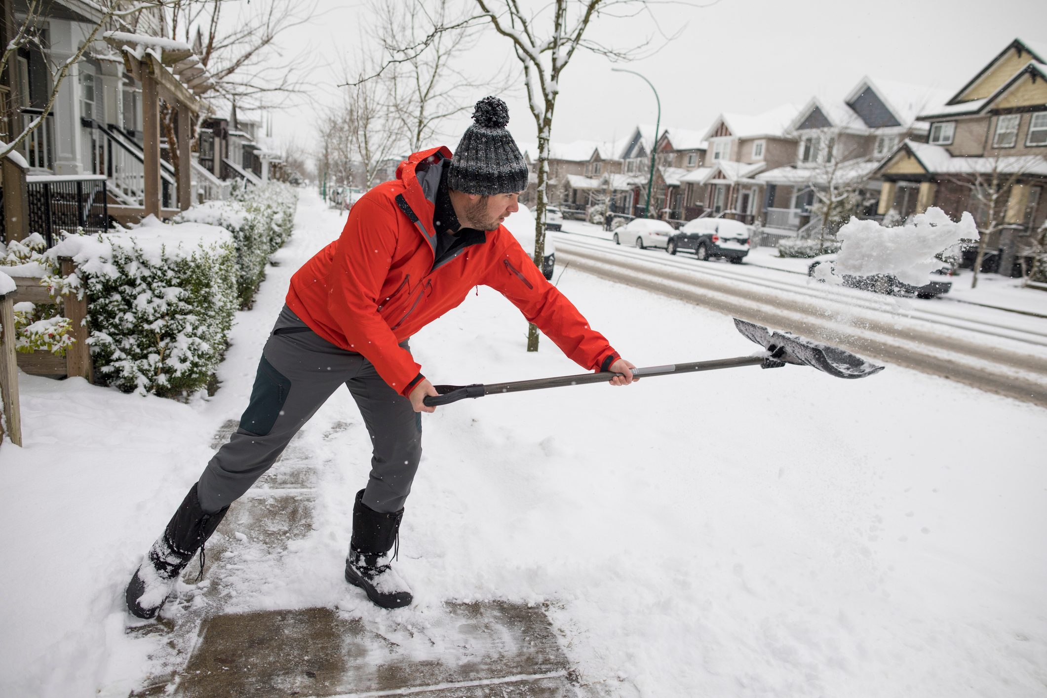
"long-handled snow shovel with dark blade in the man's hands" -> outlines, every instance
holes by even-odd
[[[637,378],[646,378],[648,376],[671,376],[673,374],[735,368],[737,366],[778,368],[784,366],[786,363],[798,366],[811,366],[837,378],[865,378],[884,369],[883,366],[869,363],[850,352],[804,339],[788,332],[775,332],[759,324],[739,320],[738,318],[734,318],[734,327],[742,335],[762,346],[764,351],[753,356],[742,356],[734,359],[714,359],[712,361],[695,361],[692,363],[674,363],[666,366],[636,368],[632,375]],[[435,385],[433,387],[440,395],[429,396],[422,402],[429,407],[435,407],[458,402],[464,398],[483,398],[484,396],[496,392],[519,392],[521,390],[558,388],[566,385],[603,383],[619,375],[607,370],[596,374],[579,374],[577,376],[539,378],[533,381],[513,381],[511,383]]]

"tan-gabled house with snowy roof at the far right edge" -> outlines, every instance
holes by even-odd
[[[1018,275],[1047,217],[1047,45],[1015,39],[919,119],[928,142],[904,140],[873,173],[884,181],[877,213],[971,211],[993,252],[987,268]]]

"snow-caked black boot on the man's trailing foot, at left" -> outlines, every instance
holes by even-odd
[[[215,514],[200,508],[197,486],[194,485],[178,511],[168,522],[163,535],[149,548],[146,559],[138,565],[126,598],[128,610],[139,618],[156,617],[156,613],[175,588],[178,576],[215,533],[228,506]],[[200,553],[200,573],[203,573],[203,551]]]

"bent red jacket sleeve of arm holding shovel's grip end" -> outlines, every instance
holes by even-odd
[[[393,389],[407,396],[422,380],[421,366],[397,342],[378,314],[378,296],[396,250],[396,223],[388,211],[364,197],[349,211],[327,278],[328,312],[349,348],[374,364]]]

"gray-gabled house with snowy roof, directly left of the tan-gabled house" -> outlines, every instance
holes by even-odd
[[[765,187],[763,225],[783,233],[821,225],[822,218],[812,221],[812,209],[829,189],[833,204],[823,213],[830,225],[851,213],[873,213],[879,182],[870,176],[876,163],[906,138],[927,140],[929,126],[917,115],[943,97],[923,86],[869,76],[843,99],[811,97],[785,131],[796,142],[793,161],[756,176]],[[837,204],[842,198],[846,205]]]

